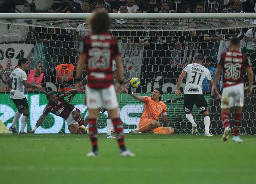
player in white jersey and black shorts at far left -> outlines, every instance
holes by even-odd
[[[30,84],[27,82],[27,75],[24,70],[28,67],[28,60],[26,58],[20,58],[18,60],[19,68],[16,68],[12,71],[9,79],[7,80],[8,87],[11,89],[10,98],[17,107],[18,111],[15,113],[12,125],[9,128],[10,132],[18,133],[16,129],[16,122],[22,116],[21,119],[21,130],[20,133],[23,134],[25,126],[27,124],[27,119],[29,116],[29,107],[27,103],[27,99],[24,95],[24,89],[26,87],[41,90],[41,85]]]

